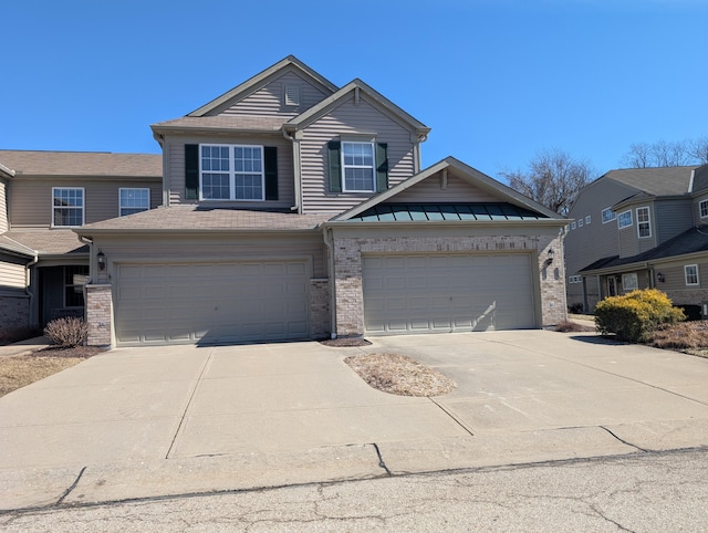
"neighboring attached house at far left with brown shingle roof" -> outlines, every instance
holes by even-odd
[[[156,155],[0,150],[0,327],[84,315],[73,228],[162,203]]]

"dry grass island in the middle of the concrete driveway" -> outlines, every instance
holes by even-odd
[[[398,354],[353,355],[344,359],[369,386],[399,396],[440,396],[457,384],[439,372]]]

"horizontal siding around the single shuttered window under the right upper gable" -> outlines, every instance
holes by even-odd
[[[388,185],[399,184],[415,171],[414,132],[393,121],[362,95],[320,118],[303,132],[300,143],[304,212],[341,212],[366,198],[367,192],[329,192],[327,142],[342,136],[375,134],[377,143],[388,144]]]

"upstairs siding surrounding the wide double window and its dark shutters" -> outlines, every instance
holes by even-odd
[[[170,137],[165,142],[167,165],[165,181],[169,189],[169,205],[201,203],[210,207],[237,207],[240,209],[279,208],[288,209],[295,203],[294,175],[292,169],[292,142],[281,134],[260,137],[229,135],[223,137]],[[278,200],[266,201],[201,201],[185,199],[185,145],[188,144],[244,144],[274,146],[278,148]]]

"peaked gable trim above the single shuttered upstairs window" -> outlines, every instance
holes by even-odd
[[[417,135],[426,136],[430,128],[425,124],[403,111],[396,104],[391,102],[384,95],[368,86],[363,81],[356,79],[352,82],[347,83],[345,86],[340,88],[336,93],[331,96],[324,98],[319,104],[310,107],[304,113],[301,113],[294,118],[291,118],[289,122],[284,124],[284,128],[287,130],[298,130],[304,129],[321,117],[327,115],[333,109],[340,107],[342,104],[348,102],[353,97],[353,93],[360,91],[361,94],[366,98],[366,101],[373,104],[375,107],[384,112],[389,117],[394,118],[402,126],[407,129],[414,129]]]

